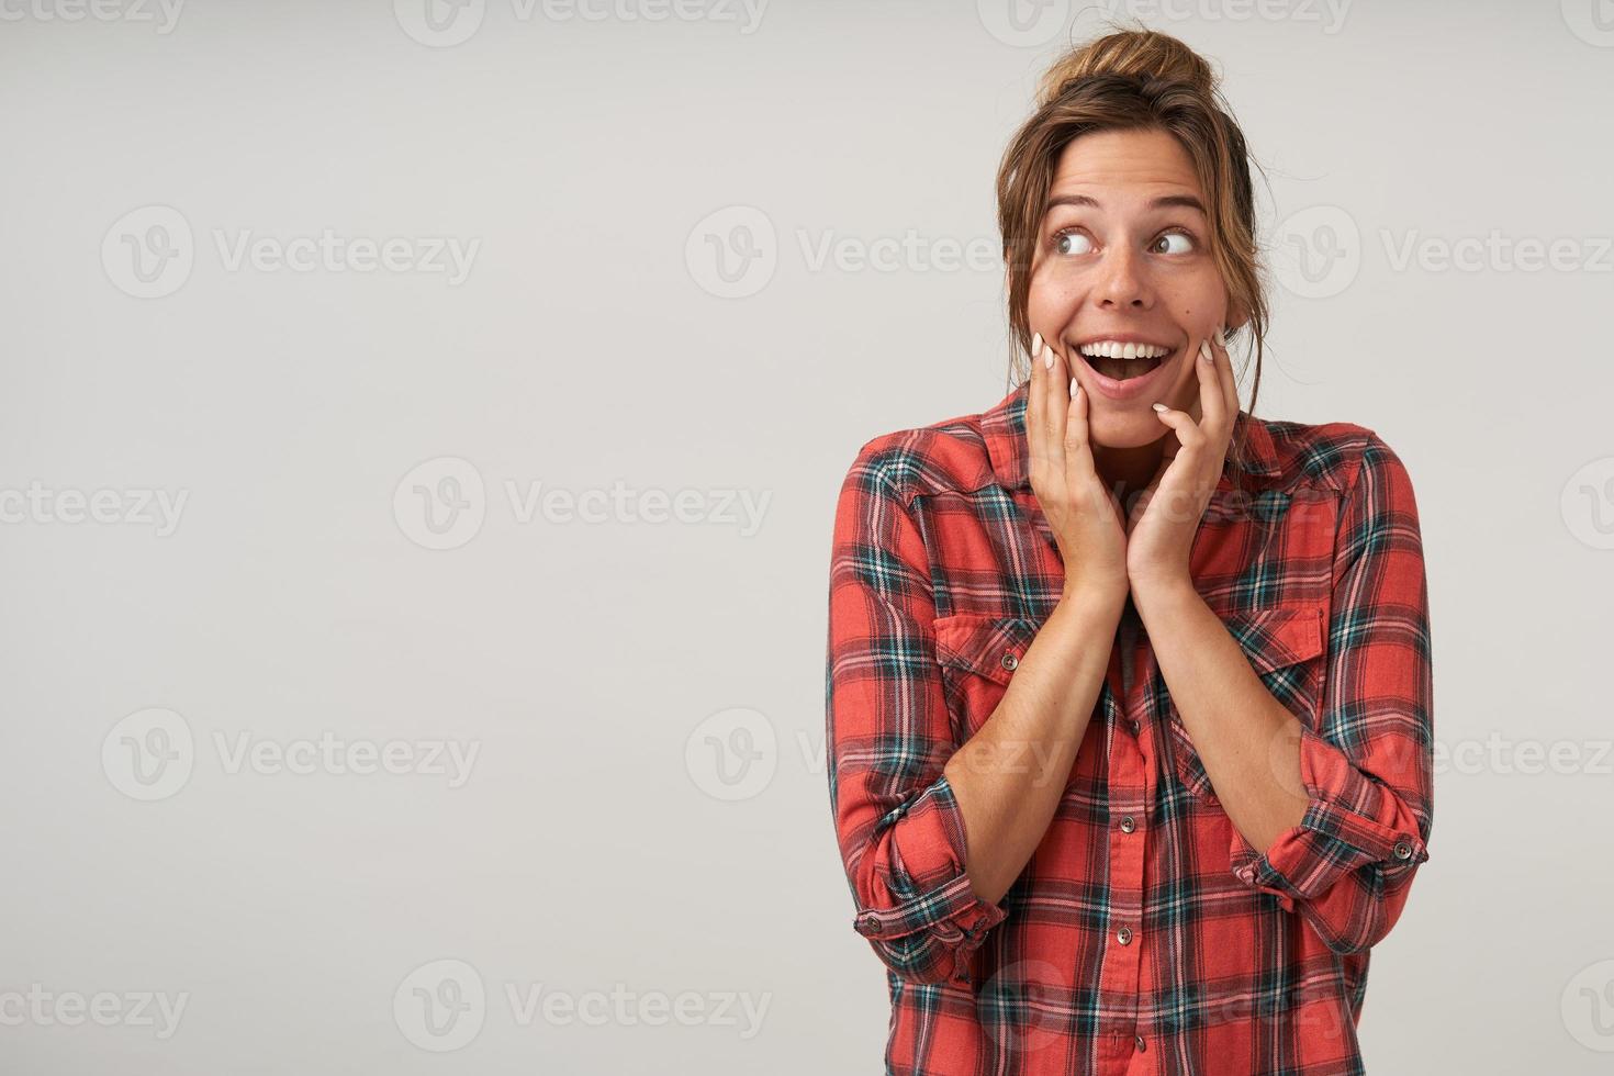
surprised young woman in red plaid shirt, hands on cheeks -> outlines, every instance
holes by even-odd
[[[834,519],[830,797],[886,1070],[1359,1073],[1432,820],[1407,471],[1240,408],[1249,161],[1180,40],[1062,58],[997,202],[1028,379],[865,444]]]

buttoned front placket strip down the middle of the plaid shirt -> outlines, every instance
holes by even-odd
[[[1104,999],[1101,1049],[1107,1071],[1149,1073],[1157,1053],[1139,1020],[1146,981],[1143,950],[1146,805],[1154,792],[1154,728],[1148,721],[1149,653],[1138,645],[1143,624],[1128,598],[1106,674],[1104,721],[1109,739],[1109,921],[1099,992]],[[1115,690],[1119,681],[1119,690]]]

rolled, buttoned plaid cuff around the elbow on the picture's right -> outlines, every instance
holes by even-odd
[[[1385,884],[1428,858],[1417,818],[1385,784],[1357,769],[1343,750],[1301,728],[1301,779],[1311,792],[1306,816],[1257,852],[1233,829],[1233,874],[1272,894],[1285,911],[1314,900],[1343,876],[1377,866]]]

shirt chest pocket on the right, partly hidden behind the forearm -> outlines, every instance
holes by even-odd
[[[1222,623],[1243,649],[1267,690],[1307,728],[1317,728],[1325,674],[1323,603],[1298,603],[1225,613]],[[1167,752],[1177,779],[1194,797],[1215,803],[1204,763],[1183,726],[1177,702],[1167,697]]]

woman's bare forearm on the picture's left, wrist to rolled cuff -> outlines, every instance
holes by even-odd
[[[1002,700],[947,760],[970,887],[996,903],[1054,816],[1109,668],[1127,595],[1067,594],[1027,647]]]

